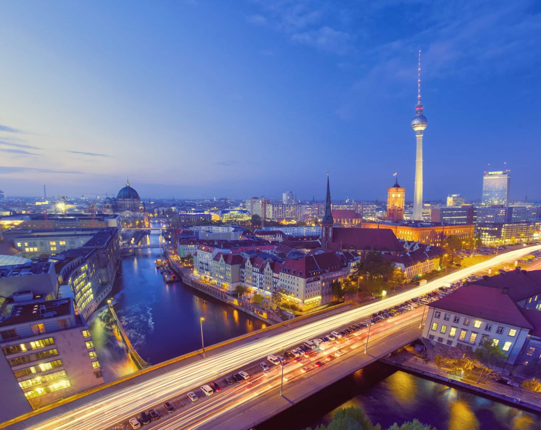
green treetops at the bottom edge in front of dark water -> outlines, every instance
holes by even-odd
[[[312,430],[308,427],[306,430]],[[373,425],[372,421],[367,418],[361,408],[350,406],[348,408],[340,408],[334,414],[333,420],[328,426],[320,425],[315,430],[382,430],[380,424]],[[419,420],[406,421],[402,425],[396,422],[387,430],[437,430],[428,424],[423,424]]]

